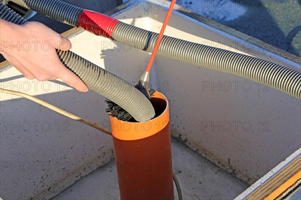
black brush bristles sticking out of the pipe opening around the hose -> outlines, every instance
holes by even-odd
[[[153,88],[149,89],[150,97],[152,97],[155,91],[156,90]],[[108,112],[111,116],[114,116],[118,120],[122,120],[122,121],[134,121],[133,117],[127,111],[125,111],[122,107],[120,107],[113,101],[106,99],[104,102],[107,103],[108,105],[105,111]]]

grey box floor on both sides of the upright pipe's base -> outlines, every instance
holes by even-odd
[[[173,168],[184,199],[233,199],[248,184],[172,138]],[[130,183],[129,183],[130,184]],[[178,198],[175,187],[175,197]],[[83,177],[52,200],[119,199],[114,160]]]

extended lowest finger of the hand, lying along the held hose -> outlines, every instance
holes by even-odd
[[[66,82],[68,85],[74,87],[78,91],[86,92],[88,91],[87,85],[71,70],[63,67],[58,75],[58,78]]]

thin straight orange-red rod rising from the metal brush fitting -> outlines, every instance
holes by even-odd
[[[165,17],[163,26],[162,26],[161,31],[160,31],[160,33],[159,33],[159,36],[158,36],[158,38],[157,38],[156,45],[155,45],[155,48],[154,48],[154,50],[153,50],[152,56],[150,56],[150,59],[149,59],[148,64],[147,64],[147,66],[146,66],[146,70],[145,70],[145,71],[147,71],[147,72],[149,72],[150,68],[151,68],[152,65],[153,65],[155,56],[156,56],[156,54],[157,54],[159,45],[160,45],[161,40],[162,40],[162,37],[163,37],[163,33],[164,33],[165,28],[166,28],[166,26],[167,26],[167,23],[168,23],[168,21],[169,21],[169,19],[170,19],[170,17],[171,17],[171,14],[172,14],[172,11],[173,11],[173,9],[174,9],[175,3],[176,3],[176,0],[172,0],[171,5],[170,5],[170,8],[169,8],[169,10],[168,10],[168,12],[167,12],[167,14],[166,14],[166,17]]]

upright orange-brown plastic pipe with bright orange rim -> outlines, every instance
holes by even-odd
[[[110,116],[121,199],[174,199],[168,100],[151,101],[162,113],[149,121]]]

